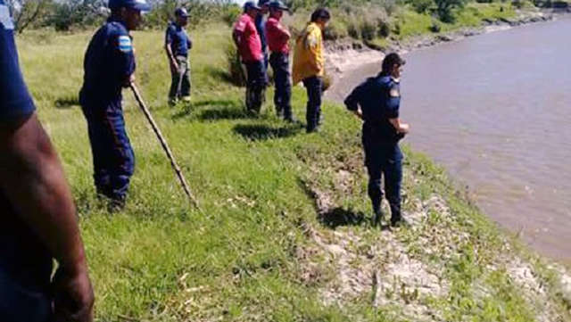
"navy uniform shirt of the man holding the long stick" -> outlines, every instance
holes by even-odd
[[[132,39],[121,21],[110,18],[91,39],[85,60],[82,106],[100,105],[121,99],[121,89],[135,72]]]

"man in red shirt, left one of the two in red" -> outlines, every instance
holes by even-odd
[[[238,54],[246,66],[246,109],[260,112],[262,93],[266,88],[266,69],[264,67],[264,55],[261,52],[261,39],[254,19],[260,12],[260,7],[252,1],[244,4],[244,13],[240,16],[232,38],[238,48]]]

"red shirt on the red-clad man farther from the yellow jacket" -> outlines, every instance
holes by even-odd
[[[244,62],[258,62],[263,60],[261,53],[261,40],[252,17],[244,13],[236,21],[234,30],[241,33],[238,52]]]

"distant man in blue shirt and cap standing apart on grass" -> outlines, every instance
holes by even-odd
[[[188,12],[185,8],[175,11],[175,21],[169,23],[165,36],[164,48],[170,63],[169,103],[177,103],[178,99],[190,102],[190,66],[188,64],[188,50],[193,43],[186,34],[185,27],[188,24]]]

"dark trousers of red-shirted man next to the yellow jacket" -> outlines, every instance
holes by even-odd
[[[274,93],[274,104],[278,115],[283,113],[285,120],[293,120],[292,115],[292,81],[289,72],[289,55],[283,53],[272,53],[269,56],[269,63],[274,70],[274,80],[276,91]]]

